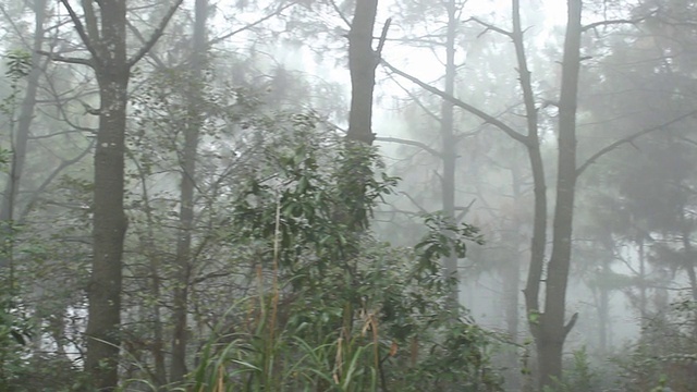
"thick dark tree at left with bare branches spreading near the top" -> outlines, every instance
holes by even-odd
[[[129,81],[132,68],[152,48],[182,1],[171,5],[148,41],[129,56],[126,0],[83,1],[82,17],[70,0],[61,0],[90,56],[88,59],[53,58],[90,66],[99,85],[93,200],[94,255],[88,287],[85,369],[95,387],[105,391],[114,390],[119,382],[122,255],[127,226],[123,210],[123,174]]]

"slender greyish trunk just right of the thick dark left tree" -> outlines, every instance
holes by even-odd
[[[178,278],[174,285],[174,333],[172,339],[172,366],[170,377],[178,382],[186,375],[186,341],[188,317],[188,290],[192,268],[191,248],[194,229],[194,201],[196,187],[196,158],[203,123],[201,84],[206,59],[206,21],[208,0],[196,0],[194,38],[192,50],[191,88],[188,96],[187,126],[184,131],[184,151],[181,160],[182,184],[180,194],[180,229],[176,241]]]

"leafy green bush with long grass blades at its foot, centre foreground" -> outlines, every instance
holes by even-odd
[[[394,248],[337,219],[345,206],[357,221],[367,219],[396,179],[380,172],[375,149],[337,143],[320,124],[311,114],[294,117],[286,143],[267,150],[240,184],[229,240],[257,257],[257,293],[229,310],[225,319],[234,321],[216,328],[188,387],[499,390],[490,338],[450,313],[453,282],[440,272],[448,252],[463,256],[467,242],[481,241],[477,230],[427,216],[424,241]],[[362,200],[340,186],[348,173],[339,169],[356,157],[371,174]]]

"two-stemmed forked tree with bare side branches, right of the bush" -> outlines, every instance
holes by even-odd
[[[578,79],[582,64],[580,42],[584,32],[606,24],[635,23],[636,21],[601,21],[589,25],[582,24],[584,3],[580,0],[568,0],[566,32],[561,63],[561,86],[559,101],[554,102],[559,110],[558,146],[557,146],[557,184],[555,207],[553,212],[552,249],[549,261],[546,261],[547,245],[547,185],[545,179],[546,166],[541,155],[540,125],[538,112],[540,106],[535,95],[531,72],[524,39],[524,28],[521,23],[519,1],[512,1],[513,28],[506,30],[485,21],[474,19],[475,23],[482,25],[487,32],[492,30],[511,38],[517,59],[517,74],[525,107],[527,132],[521,133],[509,125],[508,122],[479,109],[476,106],[464,102],[452,95],[435,88],[418,78],[411,76],[396,68],[387,64],[393,73],[405,77],[421,86],[426,90],[436,94],[466,110],[481,120],[503,131],[514,140],[519,142],[527,150],[534,179],[534,228],[531,238],[530,266],[527,284],[524,290],[528,324],[535,338],[538,362],[540,364],[538,380],[541,385],[553,385],[555,379],[562,376],[562,352],[566,335],[573,328],[577,315],[568,321],[565,320],[566,287],[568,284],[568,271],[571,266],[571,248],[574,218],[574,199],[576,181],[584,171],[600,157],[612,151],[619,146],[629,143],[636,137],[656,128],[647,128],[633,135],[615,140],[601,148],[582,164],[576,162],[576,111],[578,106]],[[546,274],[545,274],[546,272]],[[545,282],[542,290],[541,283]],[[540,306],[540,294],[543,293],[545,306]]]

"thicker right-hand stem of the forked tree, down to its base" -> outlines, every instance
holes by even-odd
[[[576,106],[580,69],[582,0],[568,0],[562,86],[559,101],[559,158],[554,234],[545,293],[545,313],[540,317],[538,336],[540,380],[553,385],[562,376],[562,352],[575,317],[565,322],[566,286],[571,266],[572,228],[576,191]]]

